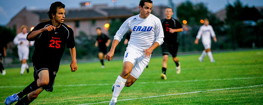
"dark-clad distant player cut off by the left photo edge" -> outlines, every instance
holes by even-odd
[[[2,63],[2,58],[6,57],[6,47],[3,41],[0,42],[0,72],[1,75],[6,75],[6,70]]]

